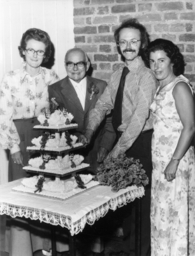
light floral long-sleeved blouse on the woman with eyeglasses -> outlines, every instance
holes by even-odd
[[[11,154],[20,150],[20,138],[13,120],[40,115],[49,106],[48,85],[59,81],[54,70],[40,67],[40,72],[31,77],[20,69],[4,75],[0,87],[0,145],[9,148]]]

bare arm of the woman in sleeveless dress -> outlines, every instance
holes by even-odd
[[[175,99],[175,106],[184,129],[173,153],[176,159],[171,158],[164,171],[165,179],[168,181],[175,179],[175,173],[180,162],[177,159],[182,159],[191,145],[195,132],[194,99],[189,85],[182,81],[178,82],[173,89],[173,98]]]

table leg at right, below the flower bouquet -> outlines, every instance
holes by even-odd
[[[135,254],[141,256],[141,198],[136,198],[135,207]]]

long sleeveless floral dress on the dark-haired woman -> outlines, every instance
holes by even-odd
[[[152,136],[151,255],[195,255],[195,164],[190,147],[178,164],[176,178],[164,179],[164,170],[177,147],[183,129],[172,92],[178,76],[154,97]],[[192,88],[191,88],[192,90]]]

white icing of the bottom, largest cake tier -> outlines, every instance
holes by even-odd
[[[92,180],[92,175],[80,175],[85,183],[86,189],[92,188],[99,184],[98,181]],[[22,191],[26,193],[33,193],[37,189],[35,185],[38,182],[39,177],[34,176],[31,178],[25,178],[22,180],[22,185],[13,188],[13,191]],[[54,198],[66,199],[77,193],[84,191],[85,189],[77,188],[76,180],[71,178],[69,180],[54,180],[43,182],[43,190],[37,191],[36,195],[52,196]]]

